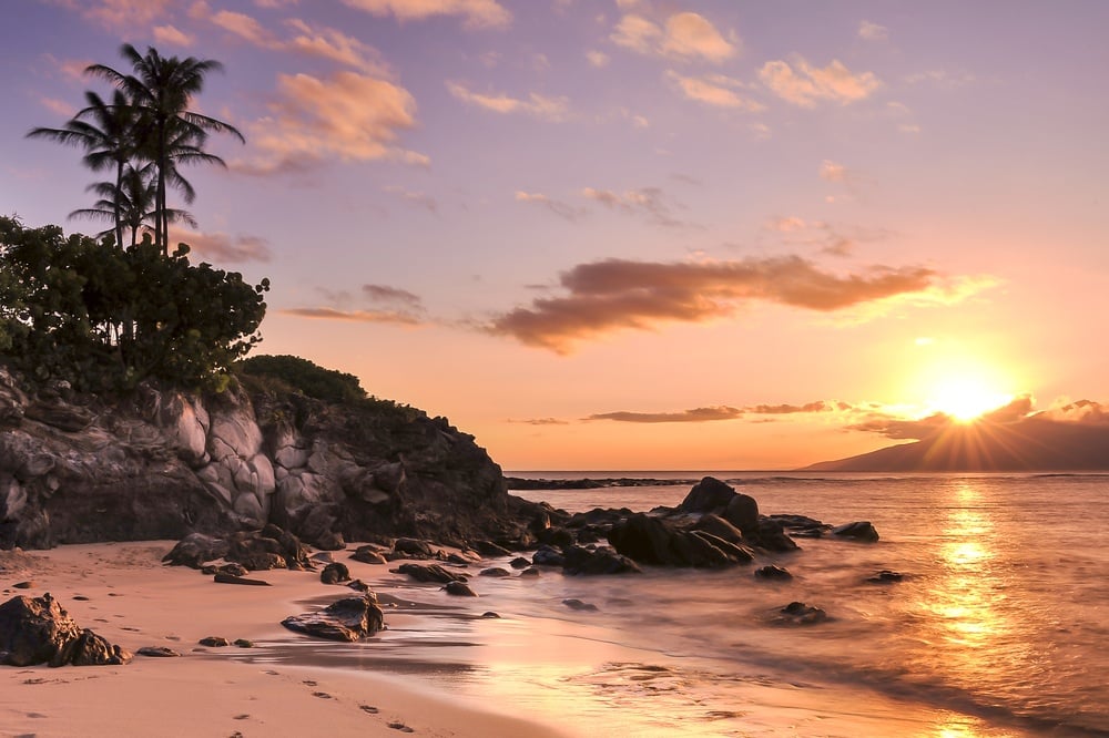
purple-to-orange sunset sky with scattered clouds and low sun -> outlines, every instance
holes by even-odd
[[[194,262],[264,353],[506,470],[793,469],[999,407],[1106,418],[1109,3],[3,0],[0,213],[89,207],[27,140],[223,63]],[[180,201],[174,203],[181,205]],[[918,434],[917,434],[918,435]]]

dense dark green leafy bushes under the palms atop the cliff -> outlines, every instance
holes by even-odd
[[[0,217],[0,350],[34,380],[128,389],[144,379],[220,390],[261,340],[263,295],[237,273],[165,255],[149,234],[128,250],[59,226]]]

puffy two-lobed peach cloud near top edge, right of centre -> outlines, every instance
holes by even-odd
[[[624,49],[680,59],[721,63],[736,53],[734,43],[728,41],[703,16],[694,12],[674,13],[662,25],[642,16],[628,13],[621,17],[609,37]]]

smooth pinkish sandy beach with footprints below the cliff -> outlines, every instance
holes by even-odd
[[[172,546],[160,541],[0,552],[3,602],[49,592],[79,625],[114,644],[132,652],[166,646],[182,655],[135,656],[120,667],[2,667],[0,735],[558,735],[415,679],[243,663],[227,654],[244,649],[199,646],[206,636],[288,638],[283,618],[313,609],[308,601],[349,590],[322,584],[317,573],[289,571],[253,575],[269,587],[215,584],[196,571],[162,566]],[[342,552],[337,557],[346,558]],[[384,566],[375,571],[395,576]],[[29,588],[13,588],[26,581]]]

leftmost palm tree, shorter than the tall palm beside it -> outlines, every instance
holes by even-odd
[[[126,95],[116,90],[111,104],[105,103],[95,92],[84,93],[89,104],[62,129],[32,129],[29,139],[52,139],[59,143],[81,146],[85,151],[83,162],[93,172],[115,165],[115,187],[123,184],[123,170],[135,155],[135,110]],[[111,204],[114,222],[115,246],[122,248],[123,223],[119,204]]]

